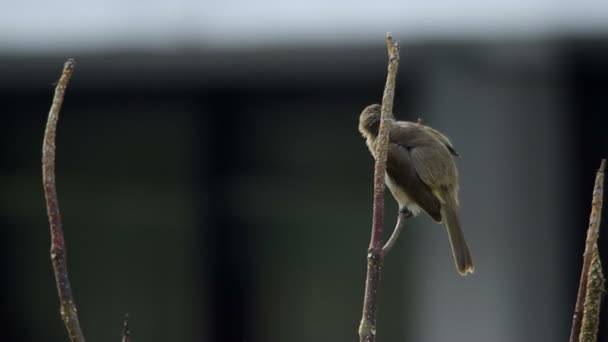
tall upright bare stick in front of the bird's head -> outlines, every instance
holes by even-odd
[[[388,150],[387,121],[393,118],[393,101],[395,98],[395,79],[399,66],[399,44],[393,42],[390,33],[386,36],[388,50],[388,75],[382,96],[382,114],[378,142],[376,145],[376,164],[374,167],[374,209],[372,219],[372,236],[367,252],[367,277],[363,314],[359,325],[360,342],[376,341],[376,307],[380,273],[382,269],[382,234],[384,226],[384,173]]]

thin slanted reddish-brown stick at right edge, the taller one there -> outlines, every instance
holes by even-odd
[[[572,330],[570,331],[570,342],[579,341],[581,334],[581,323],[583,319],[583,310],[585,307],[585,295],[587,293],[587,283],[589,276],[589,267],[593,250],[597,249],[597,238],[600,235],[600,219],[602,216],[602,197],[604,195],[604,169],[606,160],[602,159],[599,170],[595,176],[595,186],[593,187],[593,198],[591,201],[591,214],[589,215],[589,228],[587,229],[587,241],[585,242],[585,252],[583,253],[583,270],[578,287],[576,297],[576,306],[574,307],[574,316],[572,317]]]

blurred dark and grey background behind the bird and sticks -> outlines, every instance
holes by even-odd
[[[88,339],[118,341],[129,312],[133,341],[358,341],[373,161],[357,123],[381,100],[387,31],[397,117],[462,155],[476,273],[413,220],[385,261],[379,338],[566,341],[608,155],[600,1],[4,4],[0,340],[67,340],[40,158],[74,57],[57,181]]]

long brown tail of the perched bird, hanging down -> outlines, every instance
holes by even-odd
[[[467,246],[467,241],[464,238],[462,229],[460,229],[458,203],[456,202],[454,195],[449,193],[445,194],[444,200],[445,203],[441,206],[441,216],[443,216],[448,230],[448,237],[450,238],[456,269],[458,270],[458,273],[464,276],[467,275],[467,273],[473,273],[475,271],[473,258],[471,257],[471,252],[469,251],[469,246]]]

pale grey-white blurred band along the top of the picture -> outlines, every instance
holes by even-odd
[[[5,1],[0,53],[534,37],[608,31],[608,2]]]

